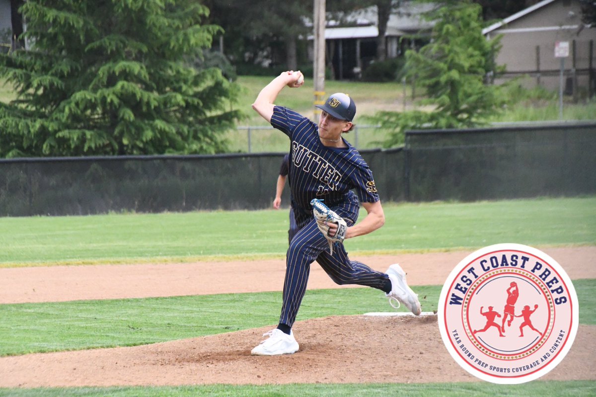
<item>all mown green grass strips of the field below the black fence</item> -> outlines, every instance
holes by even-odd
[[[596,197],[386,204],[384,209],[386,225],[347,241],[350,252],[474,249],[502,242],[596,245]],[[287,210],[0,218],[0,266],[282,258],[287,226]],[[581,324],[596,325],[596,280],[573,284]],[[440,288],[417,288],[425,297],[424,311],[436,310]],[[0,356],[134,346],[262,327],[277,321],[280,299],[279,293],[249,293],[0,305]],[[385,308],[383,294],[370,289],[309,290],[297,320]],[[0,396],[104,395],[592,396],[596,382],[0,389]]]

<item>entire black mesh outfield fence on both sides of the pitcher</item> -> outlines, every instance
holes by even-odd
[[[383,201],[596,193],[596,123],[411,131],[361,153]],[[263,209],[283,155],[0,160],[0,216]]]

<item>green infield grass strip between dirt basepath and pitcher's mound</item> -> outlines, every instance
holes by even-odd
[[[574,280],[573,286],[580,323],[596,325],[596,280]],[[441,287],[416,287],[423,311],[437,310]],[[277,323],[280,306],[278,292],[1,305],[0,356],[136,346],[265,327]],[[297,321],[386,310],[384,294],[368,288],[309,290]]]

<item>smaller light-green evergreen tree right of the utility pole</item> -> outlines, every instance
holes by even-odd
[[[386,146],[403,143],[406,129],[468,128],[486,123],[500,110],[504,96],[501,87],[491,84],[491,76],[502,67],[494,63],[500,37],[482,35],[481,8],[470,2],[457,2],[434,10],[436,21],[432,41],[420,51],[406,52],[408,76],[417,87],[426,89],[420,101],[432,111],[380,112],[375,121],[391,128]]]

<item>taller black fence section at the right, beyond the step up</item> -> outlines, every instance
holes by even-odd
[[[596,123],[406,134],[410,201],[596,193]]]

